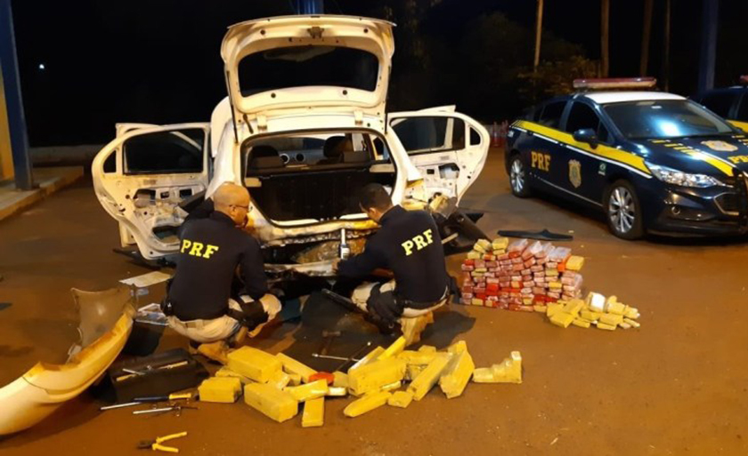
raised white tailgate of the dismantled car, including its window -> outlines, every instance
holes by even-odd
[[[393,26],[334,15],[233,25],[221,57],[236,121],[320,111],[384,119]]]

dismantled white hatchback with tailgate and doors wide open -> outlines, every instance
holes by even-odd
[[[377,228],[356,202],[371,182],[395,204],[438,212],[445,236],[460,223],[475,230],[455,208],[484,167],[488,132],[451,107],[386,114],[393,26],[292,16],[229,28],[228,97],[210,123],[118,124],[93,160],[96,196],[122,246],[169,260],[184,203],[224,182],[249,189],[247,229],[269,273],[332,276],[341,236],[357,252]]]

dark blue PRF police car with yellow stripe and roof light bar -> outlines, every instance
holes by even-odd
[[[624,239],[745,233],[748,137],[692,100],[647,92],[654,84],[577,80],[579,92],[531,108],[508,132],[512,193],[597,207]]]

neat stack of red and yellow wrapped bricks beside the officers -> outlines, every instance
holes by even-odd
[[[545,312],[549,303],[581,297],[584,258],[568,247],[499,237],[479,240],[462,263],[466,305]]]

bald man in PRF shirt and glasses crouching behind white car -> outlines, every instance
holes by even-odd
[[[247,188],[225,183],[213,195],[214,211],[185,222],[168,286],[164,313],[176,332],[201,344],[198,352],[225,363],[229,344],[240,342],[280,312],[268,293],[260,245],[241,230],[247,223]],[[243,290],[232,292],[237,267]]]

